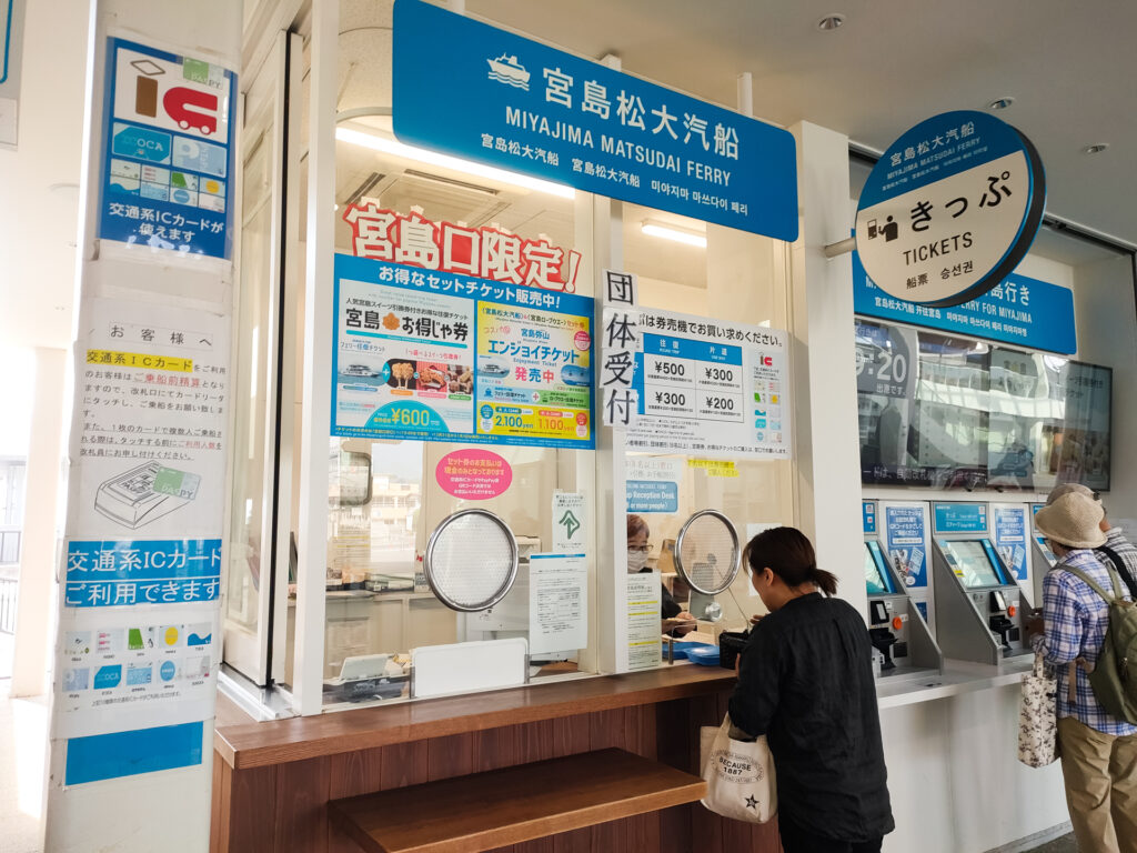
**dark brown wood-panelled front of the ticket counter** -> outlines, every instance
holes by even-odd
[[[700,726],[728,694],[675,699],[309,759],[251,770],[214,763],[210,853],[359,853],[327,820],[329,800],[616,746],[698,772]],[[445,820],[440,804],[439,819]],[[725,820],[702,805],[601,823],[492,853],[780,853],[777,821]]]

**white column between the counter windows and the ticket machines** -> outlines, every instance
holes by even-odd
[[[798,517],[818,564],[840,580],[840,595],[868,607],[861,566],[853,288],[848,256],[824,247],[848,237],[849,157],[844,134],[802,122],[797,139],[802,231],[792,250],[794,399]]]

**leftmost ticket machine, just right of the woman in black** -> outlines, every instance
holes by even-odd
[[[939,672],[943,664],[939,646],[921,611],[908,595],[878,538],[877,505],[865,500],[864,582],[869,594],[869,638],[882,659],[881,678],[921,677]]]

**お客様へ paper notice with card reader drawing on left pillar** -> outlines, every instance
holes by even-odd
[[[76,365],[83,409],[73,538],[221,536],[229,317],[92,299]]]

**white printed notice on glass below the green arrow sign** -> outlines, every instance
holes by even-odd
[[[588,562],[583,554],[529,557],[529,653],[588,645]]]

